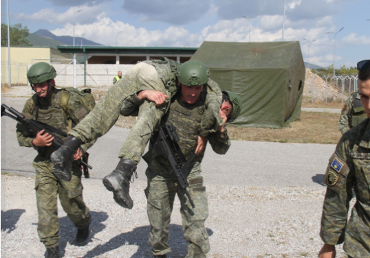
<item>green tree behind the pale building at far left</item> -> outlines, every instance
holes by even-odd
[[[32,46],[30,40],[26,37],[30,34],[27,26],[22,26],[22,23],[10,25],[10,46]],[[8,46],[8,25],[1,23],[1,46]]]

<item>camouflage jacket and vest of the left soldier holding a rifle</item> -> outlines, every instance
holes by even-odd
[[[81,112],[83,106],[82,104],[80,104],[80,100],[76,95],[71,94],[67,105],[67,114],[59,105],[60,96],[61,91],[54,89],[54,93],[52,93],[50,99],[39,100],[40,109],[37,121],[41,121],[43,124],[53,126],[54,128],[67,133],[69,120],[72,119],[72,122],[74,124],[78,124],[87,115],[87,113],[89,113],[89,110],[86,110],[86,112]],[[25,116],[26,119],[36,119],[36,112],[34,109],[32,97],[28,99],[27,102],[25,102],[22,114]],[[23,136],[22,132],[24,130],[25,128],[22,124],[17,124],[17,139],[20,146],[33,147],[35,150],[38,150],[39,152],[42,151],[47,155],[52,154],[52,152],[56,150],[56,148],[52,146],[37,148],[32,144],[32,140],[34,139],[34,137]],[[55,134],[63,141],[67,139],[67,137],[63,137],[57,133]],[[90,143],[81,145],[81,148],[83,149],[83,151],[86,151],[94,143],[95,141],[91,141]]]

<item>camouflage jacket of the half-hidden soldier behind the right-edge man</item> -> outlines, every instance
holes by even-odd
[[[353,115],[356,115],[355,113],[356,112],[353,112],[353,97],[356,97],[356,99],[358,99],[358,101],[360,101],[360,95],[358,93],[352,93],[351,95],[349,95],[348,99],[346,100],[345,102],[345,106],[343,106],[342,108],[342,112],[341,112],[341,115],[340,115],[340,119],[339,119],[339,122],[338,122],[338,128],[340,130],[340,132],[342,132],[342,134],[344,134],[345,132],[347,132],[348,128],[352,128],[352,117]],[[362,112],[361,112],[362,111]],[[361,115],[361,117],[363,117],[363,119],[366,118],[366,114],[364,113],[363,111],[363,108],[361,110],[360,108],[360,112],[357,112],[358,114],[357,115]],[[358,124],[357,120],[356,121],[353,121],[355,124],[354,126],[356,126],[356,124]]]

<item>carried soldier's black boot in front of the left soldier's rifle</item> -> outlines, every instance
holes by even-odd
[[[82,143],[80,139],[69,135],[61,148],[52,153],[50,159],[54,163],[53,173],[57,178],[68,182],[71,180],[73,155]]]

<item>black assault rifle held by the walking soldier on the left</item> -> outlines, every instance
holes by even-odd
[[[19,123],[23,124],[23,126],[25,126],[25,128],[27,129],[24,132],[22,132],[22,134],[25,137],[28,137],[31,135],[36,137],[36,135],[41,130],[45,130],[45,132],[47,132],[52,137],[54,137],[54,140],[52,141],[52,146],[54,146],[55,148],[60,148],[61,145],[63,145],[64,141],[56,137],[56,135],[53,132],[57,132],[58,134],[61,134],[62,136],[67,137],[67,134],[65,132],[62,132],[61,130],[58,130],[47,124],[43,124],[41,122],[38,122],[32,119],[26,119],[24,115],[19,113],[14,108],[9,108],[5,104],[1,105],[1,117],[3,115],[5,115],[6,117],[10,117],[11,119],[14,119],[15,121],[18,121]],[[89,157],[89,154],[86,152],[83,155],[82,159],[79,160],[79,162],[83,165],[83,175],[85,176],[85,178],[90,178],[89,169],[92,169],[91,165],[87,164],[88,157]]]

